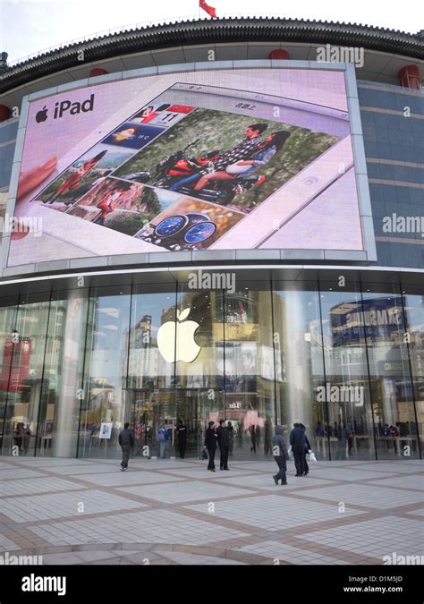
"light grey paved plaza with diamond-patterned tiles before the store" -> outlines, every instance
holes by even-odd
[[[208,472],[187,459],[0,458],[2,555],[43,564],[382,565],[424,559],[423,462]]]

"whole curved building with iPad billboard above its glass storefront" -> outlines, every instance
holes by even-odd
[[[356,48],[360,61],[335,64],[329,58],[322,63],[319,53],[328,46]],[[182,420],[188,428],[187,455],[199,457],[208,421],[224,418],[232,424],[237,459],[272,455],[275,424],[293,421],[306,425],[321,459],[421,458],[422,32],[411,36],[343,24],[217,20],[138,30],[134,36],[123,32],[86,42],[82,49],[83,63],[75,58],[75,45],[12,67],[5,64],[0,74],[2,454],[117,457],[117,436],[130,421],[139,427],[138,455],[156,455],[162,423],[169,430],[167,455],[178,455],[176,428]],[[276,96],[273,79],[285,90],[293,82],[300,89],[315,82],[319,96],[318,79],[326,73],[346,82],[344,112],[337,99],[326,111],[317,111],[306,97],[282,93],[281,103],[271,98]],[[128,89],[123,88],[126,81]],[[231,94],[236,89],[240,97],[233,113],[208,100],[216,89],[228,90],[226,82],[233,82]],[[184,88],[189,84],[191,90]],[[111,87],[117,92],[111,94]],[[125,114],[115,120],[119,130],[116,123],[99,122],[103,131],[98,132],[106,137],[101,143],[94,132],[97,123],[80,121],[72,130],[65,121],[71,116],[64,115],[64,125],[49,136],[55,134],[57,145],[64,145],[62,136],[74,136],[76,150],[64,158],[62,170],[50,170],[47,187],[38,186],[38,199],[31,199],[30,188],[25,189],[33,177],[28,168],[38,166],[38,174],[47,169],[49,151],[39,149],[48,139],[40,133],[46,124],[53,128],[55,119],[60,123],[61,107],[64,114],[73,111],[75,118],[88,120],[90,103],[98,103],[93,98],[101,98],[103,90],[111,114],[116,98],[128,101],[119,90],[142,96],[144,89],[151,101],[140,103],[142,114],[134,105],[128,122]],[[170,89],[173,101],[164,97]],[[200,99],[206,93],[208,98]],[[231,94],[219,92],[226,103]],[[16,107],[20,115],[13,117]],[[44,111],[50,112],[48,120]],[[166,123],[170,119],[178,121],[174,130]],[[253,186],[253,180],[247,183],[226,172],[227,181],[237,181],[238,189],[222,190],[231,199],[224,201],[216,188],[205,185],[203,197],[191,189],[177,200],[174,184],[186,185],[181,185],[182,173],[180,180],[172,180],[173,170],[191,169],[191,153],[208,149],[207,159],[219,172],[219,157],[212,157],[215,132],[208,123],[215,129],[221,123],[232,141],[239,134],[231,130],[236,125],[242,132],[266,123],[266,132],[274,132],[276,123],[284,123],[290,142],[284,141],[284,155],[276,155],[280,164],[271,158],[268,166],[274,172],[260,172],[263,156],[255,156],[259,170],[250,180],[265,174],[265,183],[257,180]],[[340,146],[346,134],[352,140],[351,163]],[[83,135],[89,142],[81,142]],[[162,138],[155,142],[156,136]],[[148,142],[139,142],[142,137]],[[171,151],[163,146],[155,155],[161,140]],[[96,152],[93,145],[99,145]],[[296,150],[312,153],[315,148],[307,158],[306,151]],[[81,151],[87,149],[85,157]],[[180,155],[169,164],[177,149]],[[317,190],[313,203],[306,196],[282,220],[279,208],[302,187],[318,186],[334,149],[341,154],[333,160],[337,174]],[[101,164],[105,154],[109,161],[123,157]],[[88,168],[93,157],[100,163]],[[157,167],[159,175],[152,176],[149,167],[147,175],[133,157],[145,157],[148,166],[167,157],[167,171],[159,174]],[[327,163],[319,163],[322,157]],[[121,167],[127,161],[131,170]],[[81,166],[87,174],[78,172]],[[278,166],[286,174],[278,181],[280,188],[269,191],[278,205],[261,218],[267,200],[262,202],[257,191],[280,177]],[[199,168],[196,174],[208,179],[210,173]],[[73,203],[71,191],[84,177],[91,179],[89,185]],[[116,183],[121,183],[119,191]],[[277,196],[290,186],[290,196]],[[92,191],[104,194],[96,197]],[[352,197],[349,191],[355,191]],[[215,197],[207,199],[207,193]],[[250,207],[237,223],[239,199]],[[37,223],[23,224],[36,217],[37,203],[43,217],[39,238]],[[11,216],[23,222],[8,230]],[[275,217],[278,224],[261,238],[264,222]],[[241,229],[242,224],[250,226]],[[222,230],[221,240],[216,228]],[[125,247],[123,237],[135,233]],[[206,237],[212,245],[203,244]],[[139,252],[140,241],[145,247]]]

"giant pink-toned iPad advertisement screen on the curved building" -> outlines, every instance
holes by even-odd
[[[32,221],[8,265],[363,251],[350,124],[345,73],[328,69],[164,73],[30,101],[14,214]]]

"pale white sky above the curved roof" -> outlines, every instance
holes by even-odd
[[[208,0],[218,16],[279,16],[361,23],[416,33],[424,29],[420,0],[407,3],[386,0]],[[287,3],[288,4],[288,3]],[[147,21],[208,19],[199,12],[198,0],[0,0],[0,51],[9,53],[9,64],[27,55],[84,36],[94,37],[123,25]]]

